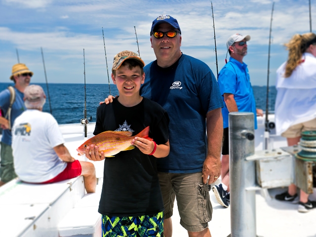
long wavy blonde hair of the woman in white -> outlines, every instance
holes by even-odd
[[[308,42],[314,40],[316,35],[314,33],[305,33],[303,35],[296,34],[292,39],[285,43],[284,46],[288,50],[288,59],[285,66],[285,78],[292,75],[294,69],[301,63],[302,55],[310,46]],[[313,44],[316,44],[315,42]]]

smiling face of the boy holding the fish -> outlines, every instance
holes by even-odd
[[[120,96],[139,95],[140,85],[145,81],[145,73],[141,75],[139,66],[129,69],[129,65],[122,65],[112,74],[113,83],[117,85]]]

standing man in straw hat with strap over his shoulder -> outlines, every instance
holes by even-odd
[[[23,102],[24,89],[30,84],[32,76],[33,72],[31,72],[25,64],[18,63],[13,65],[12,75],[10,79],[14,81],[13,90],[15,92],[15,100],[12,104],[11,111],[9,110],[11,92],[8,88],[0,92],[0,108],[3,113],[2,116],[5,117],[0,117],[0,124],[3,128],[0,153],[0,186],[9,182],[17,176],[14,171],[13,155],[11,148],[11,124],[13,124],[14,119],[16,117],[21,115],[22,112],[26,110]]]

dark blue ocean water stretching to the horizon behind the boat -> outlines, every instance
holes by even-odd
[[[0,91],[7,86],[13,85],[11,83],[0,83]],[[46,103],[43,111],[49,112],[48,94],[46,84],[39,83],[43,87],[46,94]],[[116,85],[110,84],[111,94],[118,95]],[[253,93],[256,100],[257,108],[266,110],[266,86],[253,86]],[[83,118],[84,110],[84,84],[62,84],[50,83],[48,84],[50,104],[52,114],[59,124],[79,123]],[[271,86],[269,88],[269,111],[274,111],[274,104],[276,99],[276,88]],[[86,110],[87,117],[92,116],[92,122],[95,122],[96,110],[100,101],[109,95],[108,84],[86,84]]]

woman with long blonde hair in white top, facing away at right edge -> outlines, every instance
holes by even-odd
[[[276,133],[288,146],[298,144],[302,131],[316,130],[316,35],[296,34],[285,44],[288,59],[276,71]],[[316,210],[316,201],[294,184],[276,199],[299,203],[299,212]]]

